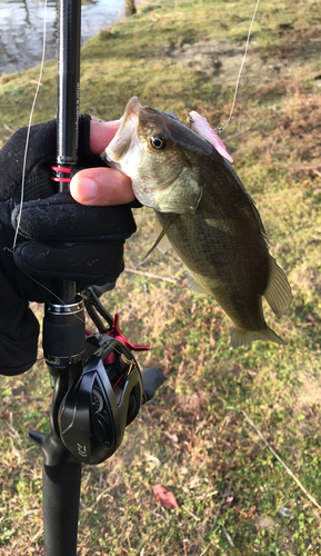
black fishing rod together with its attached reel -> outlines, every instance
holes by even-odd
[[[52,179],[69,189],[78,163],[81,0],[59,2],[57,160]],[[76,170],[77,171],[77,170]],[[57,280],[44,306],[43,355],[53,398],[50,433],[30,431],[42,449],[46,556],[76,556],[82,464],[99,464],[120,446],[126,427],[151,400],[164,377],[143,369],[119,318],[99,297],[114,284],[92,286],[77,295],[73,281]],[[87,332],[84,308],[98,332]]]

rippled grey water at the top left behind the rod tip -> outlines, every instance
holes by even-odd
[[[41,61],[43,0],[0,0],[0,75],[22,71]],[[46,60],[58,54],[59,0],[48,0]],[[82,0],[81,42],[123,16],[123,1]]]

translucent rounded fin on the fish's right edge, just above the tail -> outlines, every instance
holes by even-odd
[[[277,317],[281,318],[292,300],[291,286],[282,268],[279,267],[271,255],[269,260],[270,280],[264,291],[264,298]]]

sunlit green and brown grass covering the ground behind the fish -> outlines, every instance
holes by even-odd
[[[245,0],[141,4],[137,17],[83,47],[81,111],[118,118],[138,95],[182,120],[197,109],[214,126],[225,121],[253,8]],[[292,285],[280,322],[264,307],[288,346],[230,348],[229,318],[185,288],[172,251],[153,252],[140,268],[174,277],[177,286],[123,272],[106,306],[120,312],[132,341],[151,345],[139,355],[141,367],[159,367],[168,380],[118,453],[83,469],[80,556],[321,553],[320,512],[242,413],[321,504],[320,8],[320,0],[261,3],[224,131],[241,132],[227,145]],[[28,122],[38,71],[0,78],[3,142]],[[46,64],[34,122],[54,117],[56,71],[56,62]],[[136,210],[136,219],[128,267],[142,262],[153,241],[152,212]],[[41,458],[27,438],[30,429],[48,430],[51,389],[41,357],[40,349],[28,374],[0,381],[4,556],[42,554]],[[173,492],[179,509],[156,502],[154,484]]]

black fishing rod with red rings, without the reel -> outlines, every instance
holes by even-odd
[[[68,188],[78,162],[81,0],[59,2],[57,166],[58,189]],[[58,410],[72,378],[81,371],[84,351],[84,307],[72,281],[56,281],[54,302],[47,302],[43,354],[49,366],[53,399],[49,435],[31,431],[42,448],[43,530],[46,556],[76,556],[81,463],[59,437]],[[60,299],[61,301],[57,301]]]

